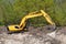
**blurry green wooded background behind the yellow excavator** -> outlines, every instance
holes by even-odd
[[[30,12],[44,10],[56,25],[66,25],[66,0],[0,0],[0,25],[19,24]],[[43,16],[29,20],[30,25],[48,24]]]

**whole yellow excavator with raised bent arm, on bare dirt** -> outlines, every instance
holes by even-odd
[[[8,25],[8,30],[10,32],[23,31],[26,25],[26,20],[29,20],[31,18],[36,18],[36,16],[44,16],[51,25],[55,26],[55,23],[52,21],[50,15],[45,11],[40,10],[40,11],[31,12],[28,15],[25,15],[24,18],[22,18],[21,23],[18,25]]]

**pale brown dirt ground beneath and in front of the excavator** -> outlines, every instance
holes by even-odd
[[[66,44],[66,26],[61,26],[56,31],[47,30],[46,26],[29,26],[28,32],[12,34],[2,32],[6,29],[0,26],[0,44]]]

